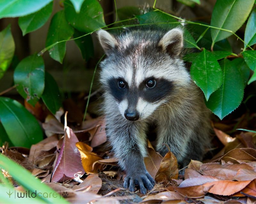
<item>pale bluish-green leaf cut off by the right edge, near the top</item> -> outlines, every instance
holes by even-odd
[[[244,33],[244,47],[254,45],[256,43],[256,8],[252,11],[251,16],[249,17],[245,33]]]

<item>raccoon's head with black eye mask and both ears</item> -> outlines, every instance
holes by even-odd
[[[172,29],[163,37],[137,31],[115,38],[99,31],[107,54],[100,74],[105,97],[127,120],[152,118],[179,86],[188,84],[189,74],[179,59],[182,34],[180,29]]]

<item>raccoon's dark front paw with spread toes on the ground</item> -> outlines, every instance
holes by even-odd
[[[147,193],[147,190],[152,190],[155,185],[155,180],[150,176],[148,172],[127,174],[124,179],[124,187],[134,192],[135,185],[140,186],[140,192],[143,194]]]

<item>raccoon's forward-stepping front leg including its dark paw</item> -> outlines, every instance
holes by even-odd
[[[124,187],[134,192],[135,185],[140,186],[140,191],[146,194],[147,190],[154,187],[155,180],[146,170],[143,157],[146,156],[147,125],[136,122],[122,122],[119,120],[108,123],[107,135],[113,146],[119,165],[126,171]]]

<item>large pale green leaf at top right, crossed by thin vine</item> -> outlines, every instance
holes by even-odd
[[[250,14],[254,0],[217,0],[211,19],[211,26],[231,30],[234,33],[244,24]],[[232,33],[211,28],[212,42],[223,40]]]

